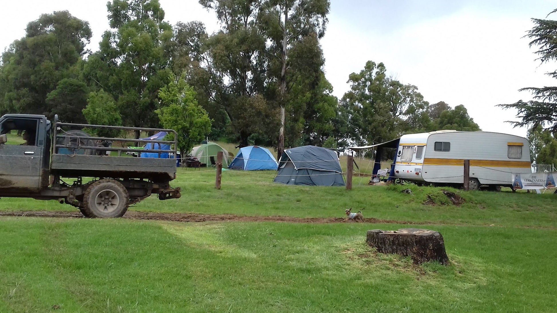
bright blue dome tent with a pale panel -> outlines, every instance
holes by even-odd
[[[232,160],[228,168],[233,170],[257,171],[274,170],[278,167],[277,160],[266,148],[248,146],[240,148],[238,155]]]

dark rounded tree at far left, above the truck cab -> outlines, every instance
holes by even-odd
[[[85,107],[86,92],[78,79],[91,36],[89,23],[68,11],[42,14],[29,22],[25,37],[2,54],[2,111],[52,116],[53,110]],[[80,90],[81,96],[72,95],[75,90]],[[80,110],[74,113],[79,121]]]

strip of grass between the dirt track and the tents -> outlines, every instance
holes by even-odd
[[[428,195],[445,199],[440,188],[368,186],[368,177],[354,177],[354,188],[285,186],[272,182],[273,172],[224,171],[222,188],[214,188],[212,168],[180,168],[172,186],[182,187],[182,197],[160,201],[152,196],[130,208],[138,211],[207,213],[249,216],[340,217],[353,207],[364,217],[386,220],[442,222],[468,225],[554,227],[557,195],[546,193],[459,192],[461,206],[424,205]],[[412,195],[401,193],[411,188]],[[2,198],[0,210],[71,210],[56,201]]]

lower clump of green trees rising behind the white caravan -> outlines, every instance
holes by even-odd
[[[418,87],[386,73],[385,64],[368,61],[359,73],[350,74],[350,91],[341,99],[333,123],[340,146],[381,143],[404,133],[480,130],[463,105],[452,109],[438,102],[430,106]]]

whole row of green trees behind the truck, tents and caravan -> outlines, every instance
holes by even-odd
[[[218,31],[199,21],[170,25],[159,0],[111,0],[95,52],[85,48],[89,23],[67,11],[41,15],[2,54],[0,111],[175,128],[183,153],[206,136],[280,151],[480,129],[463,105],[429,105],[383,63],[351,73],[350,90],[335,97],[320,43],[329,0],[199,3],[216,14]]]

